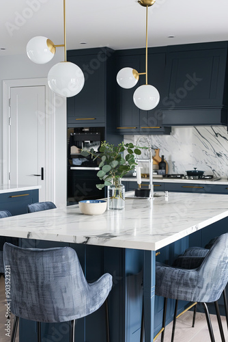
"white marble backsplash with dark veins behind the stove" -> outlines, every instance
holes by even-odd
[[[139,140],[140,139],[140,140]],[[124,135],[124,142],[139,146],[160,148],[169,165],[169,174],[186,174],[186,170],[205,171],[214,177],[228,177],[227,127],[173,127],[171,135]],[[143,151],[142,157],[148,157]],[[147,173],[146,163],[141,163],[142,173]]]

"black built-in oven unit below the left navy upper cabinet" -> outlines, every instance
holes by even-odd
[[[100,160],[96,158],[94,161],[91,155],[81,155],[81,150],[91,148],[98,153],[102,141],[104,127],[68,128],[68,205],[79,200],[104,198],[104,189],[96,187],[100,181],[96,175]]]

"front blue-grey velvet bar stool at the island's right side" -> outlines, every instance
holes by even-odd
[[[195,269],[182,269],[156,263],[156,295],[165,297],[163,312],[163,326],[165,326],[167,298],[176,300],[173,318],[173,333],[175,332],[175,319],[177,315],[177,301],[201,302],[205,311],[210,340],[214,342],[214,333],[210,322],[208,307],[205,303],[214,302],[222,341],[225,341],[223,326],[217,300],[225,289],[228,280],[228,234],[223,234],[214,242],[208,254],[203,258],[201,265]],[[162,331],[164,341],[165,330]]]

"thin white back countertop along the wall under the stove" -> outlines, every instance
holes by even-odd
[[[216,178],[215,178],[216,179]],[[137,182],[136,177],[123,177],[123,182]],[[142,183],[149,182],[149,177],[142,178]],[[228,179],[173,179],[153,176],[153,183],[188,183],[188,184],[214,184],[214,185],[228,185]]]

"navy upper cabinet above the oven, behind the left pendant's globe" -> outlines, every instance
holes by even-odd
[[[81,92],[67,100],[68,125],[104,126],[108,115],[110,118],[113,116],[109,112],[113,105],[108,101],[113,98],[115,103],[114,96],[109,94],[113,92],[111,81],[114,74],[111,72],[114,58],[114,51],[108,48],[68,51],[68,62],[78,65],[85,76]]]

